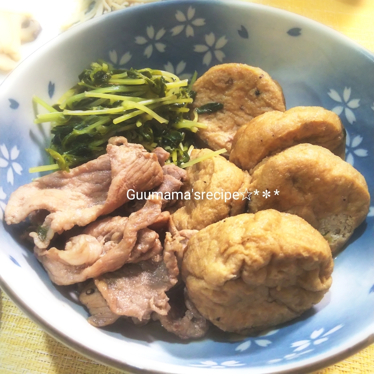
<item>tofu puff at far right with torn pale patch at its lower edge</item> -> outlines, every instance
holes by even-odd
[[[370,195],[365,178],[319,145],[298,144],[261,161],[251,172],[249,210],[297,214],[315,227],[335,251],[364,221]],[[262,197],[265,190],[270,197]],[[279,190],[276,195],[273,191]]]

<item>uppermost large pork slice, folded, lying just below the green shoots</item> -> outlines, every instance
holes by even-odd
[[[86,226],[129,199],[127,191],[159,186],[163,171],[155,153],[124,137],[110,138],[107,154],[70,172],[58,171],[19,187],[5,209],[7,224],[19,223],[33,211],[46,209],[45,238],[31,233],[39,248],[47,248],[55,232]]]

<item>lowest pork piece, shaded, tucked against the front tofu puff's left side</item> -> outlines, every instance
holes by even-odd
[[[182,292],[170,295],[169,304],[171,309],[166,316],[152,316],[160,321],[163,328],[181,339],[198,339],[206,334],[209,328],[208,321],[193,305],[186,288],[184,288],[184,295]]]

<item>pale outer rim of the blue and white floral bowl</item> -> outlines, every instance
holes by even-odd
[[[164,1],[155,1],[151,3],[142,4],[142,9],[152,8],[152,7],[162,7],[162,6],[177,6],[181,4],[181,0],[168,0],[167,2]],[[364,46],[360,45],[355,40],[350,39],[344,34],[341,34],[340,32],[334,30],[331,27],[328,27],[327,25],[321,24],[318,21],[314,21],[313,19],[307,18],[302,15],[298,15],[297,13],[292,13],[287,10],[279,9],[276,7],[263,5],[263,4],[256,4],[256,3],[250,3],[246,0],[183,0],[183,3],[189,3],[189,4],[206,4],[211,3],[212,6],[214,4],[226,4],[230,6],[235,7],[242,7],[243,9],[256,9],[260,10],[263,13],[272,14],[275,16],[278,16],[280,18],[287,18],[290,20],[295,20],[300,22],[302,25],[307,25],[309,27],[318,29],[322,31],[325,34],[328,34],[333,39],[340,41],[342,44],[347,46],[348,48],[353,48],[356,51],[359,51],[363,53],[365,56],[367,56],[369,59],[371,59],[374,63],[374,53],[365,48]],[[167,4],[167,5],[166,5]],[[43,44],[42,46],[38,47],[31,55],[27,56],[4,80],[0,83],[0,89],[1,86],[7,85],[8,82],[12,80],[13,77],[15,77],[18,73],[22,73],[22,70],[24,68],[27,68],[28,61],[31,61],[32,59],[38,59],[39,55],[42,55],[45,53],[50,47],[58,45],[60,42],[62,42],[65,39],[70,39],[74,34],[76,33],[82,33],[86,29],[93,27],[95,23],[101,23],[101,22],[107,22],[107,19],[110,19],[111,17],[121,17],[122,13],[131,12],[134,9],[133,7],[128,7],[122,10],[118,10],[116,12],[107,13],[106,15],[102,15],[98,18],[91,19],[89,21],[84,22],[83,24],[76,25],[69,30],[65,31],[62,34],[59,34],[58,36],[53,37],[51,40]],[[135,7],[135,9],[138,9],[138,7]],[[136,11],[136,10],[135,10]],[[119,370],[127,370],[130,373],[139,373],[139,374],[171,374],[169,371],[160,371],[160,370],[154,370],[153,368],[149,369],[142,369],[135,367],[133,365],[126,364],[124,361],[120,361],[114,358],[111,358],[107,355],[104,355],[102,353],[96,352],[93,349],[90,349],[86,347],[83,343],[79,343],[73,338],[69,337],[68,335],[64,334],[64,332],[59,331],[56,327],[51,325],[49,322],[47,322],[45,319],[42,318],[42,316],[37,315],[30,306],[28,306],[17,294],[15,291],[13,291],[12,287],[3,279],[3,277],[0,274],[0,287],[3,290],[4,293],[6,293],[9,298],[16,304],[16,306],[21,309],[21,311],[27,315],[31,321],[35,322],[39,327],[41,327],[47,334],[51,335],[53,338],[55,338],[60,343],[64,344],[65,346],[69,347],[70,349],[73,349],[74,351],[82,354],[83,356],[86,356],[93,361],[99,362],[101,364],[119,369]],[[354,341],[352,341],[354,340]],[[347,341],[343,349],[340,349],[338,352],[332,353],[328,355],[328,353],[323,354],[320,359],[317,359],[317,361],[314,361],[312,363],[306,362],[303,365],[298,365],[297,367],[288,368],[288,366],[282,370],[277,370],[277,367],[274,366],[270,370],[264,371],[264,373],[270,374],[270,373],[277,373],[277,374],[305,374],[307,372],[320,370],[324,367],[327,367],[329,365],[333,365],[353,354],[356,352],[359,352],[360,350],[364,349],[365,347],[369,346],[370,344],[374,343],[374,322],[373,324],[369,325],[366,329],[364,329],[361,334],[355,335],[353,339],[350,339]],[[301,361],[302,362],[302,361]],[[300,362],[300,363],[301,363]],[[250,370],[250,367],[246,367],[246,369]],[[274,370],[275,369],[275,370]],[[206,373],[205,368],[193,368],[194,371],[198,371],[199,373]],[[211,369],[209,368],[209,371],[211,373],[215,373],[217,369]],[[225,369],[219,369],[220,371],[224,371],[224,373],[237,373],[236,370],[225,368]]]

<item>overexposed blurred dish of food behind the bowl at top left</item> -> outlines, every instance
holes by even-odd
[[[0,1],[0,83],[34,50],[70,27],[158,0]]]

